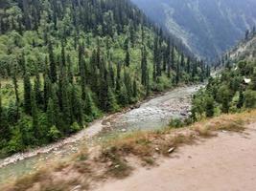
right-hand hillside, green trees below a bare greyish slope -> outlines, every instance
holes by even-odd
[[[218,66],[221,73],[210,77],[206,88],[194,97],[194,120],[256,108],[255,27],[245,32],[238,46],[222,56]]]

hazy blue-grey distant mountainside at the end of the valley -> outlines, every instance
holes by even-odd
[[[132,0],[194,53],[215,58],[256,24],[254,0]]]

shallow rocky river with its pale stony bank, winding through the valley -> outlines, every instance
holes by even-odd
[[[68,158],[78,152],[83,144],[88,143],[87,138],[96,136],[103,129],[114,132],[160,129],[167,126],[174,117],[186,117],[191,109],[191,98],[200,87],[177,88],[162,96],[151,98],[139,108],[98,120],[71,138],[35,149],[30,153],[0,159],[0,183],[33,173],[38,166],[47,166],[54,159]]]

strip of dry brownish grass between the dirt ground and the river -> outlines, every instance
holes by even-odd
[[[222,115],[181,129],[135,132],[109,138],[90,151],[81,148],[81,153],[69,160],[53,163],[51,168],[41,168],[0,190],[66,191],[78,185],[81,190],[86,190],[91,181],[127,177],[133,170],[128,159],[135,158],[142,164],[154,165],[157,157],[171,155],[182,144],[194,143],[199,137],[216,136],[218,130],[242,132],[245,124],[250,122],[256,122],[256,111]]]

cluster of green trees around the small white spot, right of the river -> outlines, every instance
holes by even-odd
[[[224,69],[220,76],[210,78],[206,89],[199,91],[193,99],[193,119],[255,108],[255,67],[255,61],[239,61],[235,66]]]

